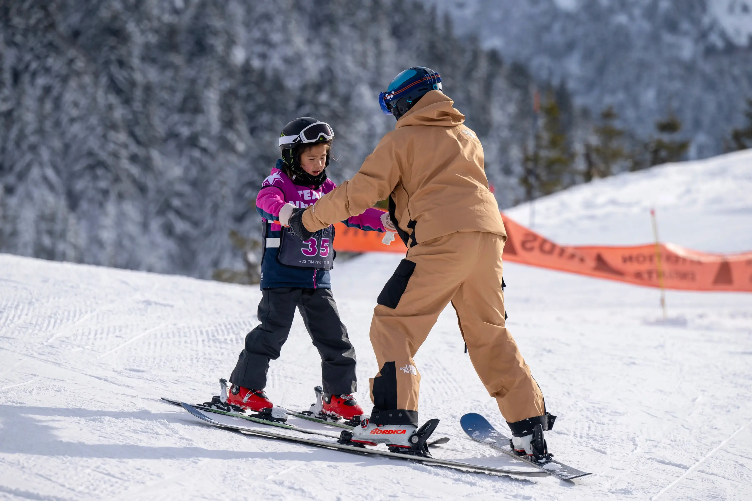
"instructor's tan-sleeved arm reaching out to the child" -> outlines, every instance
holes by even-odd
[[[399,155],[402,157],[402,155]],[[401,158],[396,155],[393,132],[379,141],[365,158],[353,179],[345,181],[308,207],[302,223],[308,231],[318,231],[350,216],[362,214],[368,207],[387,198],[402,179]]]

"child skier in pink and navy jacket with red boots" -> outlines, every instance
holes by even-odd
[[[253,412],[272,407],[264,394],[266,373],[269,361],[280,356],[297,307],[321,355],[323,394],[318,395],[311,411],[321,418],[347,421],[359,421],[357,416],[363,414],[352,396],[357,389],[355,349],[339,318],[329,282],[335,257],[334,227],[323,228],[308,240],[287,228],[293,209],[308,207],[335,189],[335,183],[326,179],[333,139],[334,131],[328,124],[310,117],[295,119],[282,129],[282,158],[256,198],[265,245],[258,309],[261,324],[246,336],[230,376],[230,391],[223,391],[225,403],[231,406]],[[363,230],[394,232],[388,216],[378,209],[366,209],[344,223]]]

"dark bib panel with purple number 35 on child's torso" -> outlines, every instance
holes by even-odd
[[[289,227],[284,227],[277,259],[287,266],[331,270],[334,266],[335,255],[332,242],[334,242],[334,226],[331,225],[317,231],[308,240],[303,240]]]

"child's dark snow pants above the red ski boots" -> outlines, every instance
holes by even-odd
[[[245,337],[245,348],[230,375],[230,382],[244,388],[266,387],[269,361],[277,360],[296,306],[305,328],[321,355],[325,394],[350,394],[357,390],[355,349],[347,337],[347,327],[339,319],[331,289],[278,287],[265,288],[259,303],[261,324]]]

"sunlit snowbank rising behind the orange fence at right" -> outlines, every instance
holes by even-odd
[[[752,250],[752,149],[665,164],[575,186],[533,202],[533,229],[572,245],[660,239],[705,252]],[[529,225],[529,204],[505,213]]]

